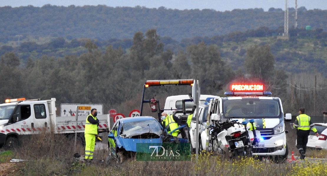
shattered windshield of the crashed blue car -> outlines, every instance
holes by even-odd
[[[159,137],[161,133],[162,130],[159,122],[153,119],[123,123],[123,126],[120,131],[120,136],[128,138],[131,136],[142,134],[156,134]]]

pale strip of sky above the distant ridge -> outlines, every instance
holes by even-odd
[[[327,0],[297,0],[298,8],[327,10]],[[0,0],[0,7],[20,7],[32,5],[42,7],[50,4],[54,6],[97,6],[108,7],[166,7],[171,9],[214,9],[226,11],[233,9],[263,8],[268,11],[270,7],[285,9],[285,0]],[[295,8],[295,0],[288,0],[288,7]]]

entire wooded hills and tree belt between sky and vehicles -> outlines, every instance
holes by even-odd
[[[146,80],[195,78],[200,80],[202,94],[220,96],[232,82],[262,82],[273,96],[282,99],[284,112],[295,114],[299,106],[305,106],[309,114],[321,115],[327,109],[327,33],[326,19],[320,20],[320,15],[326,11],[300,9],[305,18],[317,18],[307,20],[319,21],[320,26],[312,25],[312,30],[290,27],[289,38],[285,38],[281,36],[284,22],[268,18],[280,13],[283,21],[284,12],[273,8],[268,12],[216,12],[106,6],[0,7],[0,100],[54,97],[57,105],[101,103],[104,112],[114,108],[127,115],[139,108]],[[71,14],[66,17],[68,12]],[[119,32],[103,22],[112,14],[117,18],[110,26]],[[150,18],[148,14],[153,21],[144,23]],[[212,16],[218,18],[215,14],[225,19],[219,25],[228,29],[240,21],[248,23],[225,32],[221,27],[205,27],[213,23]],[[261,19],[265,15],[266,20]],[[37,20],[32,20],[34,17]],[[265,23],[251,26],[260,19]],[[172,26],[171,30],[162,30],[163,24]],[[190,93],[168,87],[154,89],[146,98],[154,96],[163,102],[172,91],[176,95]]]

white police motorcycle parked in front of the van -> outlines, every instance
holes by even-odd
[[[250,120],[253,125],[254,120]],[[253,126],[252,126],[253,127]],[[257,144],[260,132],[248,130],[247,122],[228,119],[225,122],[215,122],[210,126],[211,150],[213,152],[230,153],[231,157],[252,156],[252,144]]]

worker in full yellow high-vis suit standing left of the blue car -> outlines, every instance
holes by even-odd
[[[90,160],[93,160],[95,136],[98,135],[99,119],[96,115],[96,109],[91,109],[91,114],[87,116],[85,123],[85,159]]]

